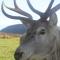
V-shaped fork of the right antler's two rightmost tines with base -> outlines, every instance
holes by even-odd
[[[57,10],[60,9],[60,3],[51,9],[53,2],[54,2],[54,0],[51,0],[46,12],[43,15],[44,19],[48,18],[49,16],[51,16],[53,13],[55,13]]]

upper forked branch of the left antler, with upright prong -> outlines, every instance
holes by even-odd
[[[8,8],[9,10],[15,11],[15,12],[21,14],[21,15],[24,15],[24,16],[32,19],[32,16],[31,16],[30,14],[28,14],[27,12],[24,12],[23,10],[21,10],[21,9],[17,6],[16,0],[14,0],[14,6],[15,6],[15,8],[10,8],[10,7],[7,7],[7,6],[5,5],[5,7]]]

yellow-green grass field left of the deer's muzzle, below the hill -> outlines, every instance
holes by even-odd
[[[0,60],[15,60],[14,52],[19,45],[19,37],[0,38]]]

